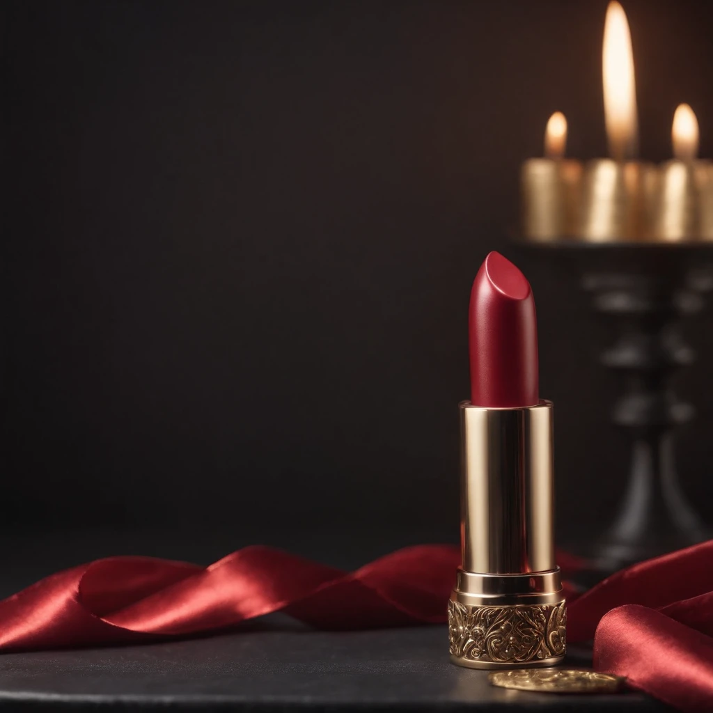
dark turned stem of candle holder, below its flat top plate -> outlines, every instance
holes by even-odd
[[[616,570],[705,538],[702,522],[679,486],[676,426],[693,416],[670,386],[693,352],[679,334],[684,314],[702,299],[676,270],[587,275],[597,312],[615,318],[619,337],[602,363],[622,378],[612,421],[630,436],[631,461],[620,510],[595,548],[601,570]]]

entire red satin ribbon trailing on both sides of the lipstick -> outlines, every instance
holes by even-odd
[[[558,555],[565,572],[580,562]],[[460,560],[419,545],[352,573],[267,547],[207,568],[96,560],[0,602],[0,650],[109,645],[227,630],[282,610],[319,629],[441,623]],[[713,540],[568,596],[568,640],[595,636],[595,667],[687,711],[713,709]]]

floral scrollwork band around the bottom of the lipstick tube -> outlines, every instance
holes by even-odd
[[[471,607],[448,602],[451,655],[471,661],[520,663],[565,652],[565,602]]]

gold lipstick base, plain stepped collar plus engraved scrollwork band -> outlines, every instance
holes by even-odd
[[[554,666],[565,655],[566,625],[559,570],[527,575],[459,570],[448,602],[451,661],[489,670]]]

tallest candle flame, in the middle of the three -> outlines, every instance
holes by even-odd
[[[622,6],[613,0],[604,26],[602,74],[609,151],[622,161],[637,150],[636,86],[629,23]]]

